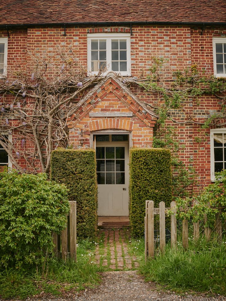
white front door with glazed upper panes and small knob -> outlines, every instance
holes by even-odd
[[[96,142],[98,215],[129,215],[128,142]]]

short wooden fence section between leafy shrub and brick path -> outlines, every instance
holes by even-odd
[[[56,257],[62,257],[66,260],[68,257],[76,260],[76,201],[70,203],[70,212],[67,216],[67,227],[61,235],[53,233],[54,254]]]

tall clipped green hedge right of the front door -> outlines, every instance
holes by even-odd
[[[130,225],[131,235],[144,235],[145,201],[172,201],[171,155],[168,149],[130,150]]]

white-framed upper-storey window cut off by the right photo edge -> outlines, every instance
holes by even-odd
[[[226,37],[213,38],[213,69],[216,77],[226,77]]]

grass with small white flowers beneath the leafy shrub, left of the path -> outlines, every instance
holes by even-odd
[[[58,295],[68,290],[79,291],[99,282],[98,267],[93,263],[95,246],[79,243],[77,262],[54,260],[45,272],[40,269],[0,270],[0,299],[26,299],[44,293]]]

